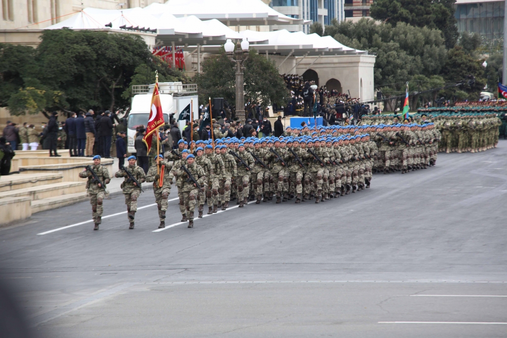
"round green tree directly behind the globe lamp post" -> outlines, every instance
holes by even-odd
[[[261,106],[286,104],[289,92],[279,75],[274,61],[250,49],[244,62],[244,99],[246,104]],[[208,97],[223,97],[229,103],[236,100],[236,65],[227,57],[224,49],[216,57],[203,62],[203,71],[195,76],[199,87],[199,101]]]

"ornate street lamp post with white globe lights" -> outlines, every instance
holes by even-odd
[[[235,47],[236,51],[234,51]],[[245,68],[243,66],[243,63],[248,58],[249,43],[246,39],[241,43],[239,43],[238,40],[236,46],[234,46],[234,43],[231,40],[227,40],[224,48],[229,60],[236,62],[236,116],[241,117],[241,122],[244,123],[246,116],[243,89],[243,70]]]

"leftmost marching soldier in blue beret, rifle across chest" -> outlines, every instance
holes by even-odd
[[[98,179],[104,184],[104,186],[97,182],[97,180],[93,177],[92,173],[88,169],[80,172],[79,177],[88,178],[86,181],[86,192],[88,193],[88,197],[90,197],[90,204],[92,205],[92,215],[93,221],[95,223],[93,230],[98,230],[98,227],[102,220],[102,212],[104,210],[102,203],[107,193],[105,191],[105,184],[109,183],[111,181],[111,178],[109,177],[109,172],[107,171],[106,167],[100,165],[99,155],[95,155],[93,157],[93,166],[91,166],[91,168],[95,172],[95,175],[97,175]]]

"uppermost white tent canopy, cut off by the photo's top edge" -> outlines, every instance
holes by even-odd
[[[195,15],[231,25],[294,25],[311,23],[278,13],[261,0],[169,0],[164,6],[176,17]]]

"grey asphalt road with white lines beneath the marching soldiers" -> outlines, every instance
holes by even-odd
[[[0,230],[0,279],[42,337],[505,337],[506,155],[500,140],[338,200],[249,204],[193,229],[171,201],[174,226],[154,232],[150,190],[135,230],[123,213],[49,232],[90,220],[87,202],[41,212]],[[104,203],[125,209],[122,195]]]

